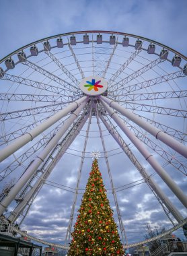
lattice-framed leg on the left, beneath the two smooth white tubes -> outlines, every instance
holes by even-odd
[[[24,199],[20,201],[20,203],[17,204],[13,212],[11,212],[11,214],[7,218],[9,222],[14,223],[15,220],[17,220],[17,218],[20,216],[20,214],[22,214],[26,206],[30,203],[32,198],[37,195],[38,191],[40,191],[40,189],[42,188],[42,185],[44,185],[45,180],[48,179],[50,173],[52,172],[54,167],[57,165],[59,160],[62,158],[63,154],[65,154],[67,148],[69,148],[71,143],[74,141],[75,137],[77,137],[77,135],[81,131],[83,125],[85,125],[85,121],[87,120],[87,117],[88,116],[83,117],[81,120],[81,123],[79,123],[79,125],[76,124],[75,128],[73,127],[71,133],[67,135],[67,141],[63,143],[63,145],[61,146],[61,150],[57,153],[57,155],[54,157],[52,162],[50,162],[48,166],[46,166],[46,162],[44,162],[43,164],[44,167],[40,169],[40,170],[44,169],[43,173],[38,178],[38,181],[34,183],[32,189],[30,189],[30,191],[26,193]],[[58,148],[59,148],[59,145],[58,145]]]

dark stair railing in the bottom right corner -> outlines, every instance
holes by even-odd
[[[187,243],[170,241],[169,243],[158,247],[155,251],[153,251],[153,253],[151,253],[151,256],[163,256],[172,252],[187,252]]]

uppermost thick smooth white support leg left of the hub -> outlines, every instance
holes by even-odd
[[[72,102],[71,104],[69,104],[69,106],[60,110],[58,113],[44,121],[44,123],[41,123],[36,128],[26,132],[24,135],[18,137],[11,144],[3,148],[3,150],[0,150],[0,162],[5,160],[5,158],[13,154],[15,151],[22,148],[22,146],[26,145],[26,143],[28,143],[29,141],[32,141],[32,139],[48,129],[51,125],[54,125],[54,123],[59,121],[61,118],[65,117],[65,115],[77,108],[77,106],[79,106],[86,98],[87,96],[83,96],[82,98],[79,98],[79,100]]]

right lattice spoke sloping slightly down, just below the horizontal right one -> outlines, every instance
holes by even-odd
[[[168,115],[172,117],[187,117],[187,110],[182,109],[176,109],[176,108],[165,108],[163,106],[152,106],[147,104],[139,104],[139,103],[130,103],[130,102],[124,102],[122,103],[122,106],[124,108],[130,109],[130,110],[138,110],[138,111],[144,111],[154,114],[160,114],[160,115]]]

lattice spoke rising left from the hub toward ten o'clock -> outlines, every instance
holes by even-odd
[[[57,84],[61,84],[61,86],[63,86],[63,92],[64,93],[67,92],[67,94],[69,96],[72,96],[72,90],[73,90],[73,92],[77,91],[77,88],[75,86],[73,86],[72,84],[69,84],[65,80],[58,77],[57,75],[54,75],[54,74],[50,73],[49,71],[46,71],[46,69],[44,69],[42,67],[39,67],[35,63],[32,63],[31,61],[25,60],[23,62],[23,64],[27,65],[28,67],[31,67],[35,71],[37,71],[37,72],[41,73],[42,75],[48,77],[49,79],[56,82]]]

